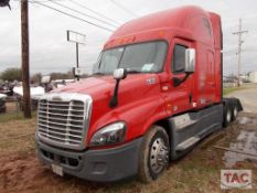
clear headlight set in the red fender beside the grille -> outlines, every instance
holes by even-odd
[[[89,142],[90,147],[107,146],[124,142],[126,136],[125,122],[110,124],[97,131]]]

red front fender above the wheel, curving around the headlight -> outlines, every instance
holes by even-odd
[[[167,117],[164,100],[160,95],[156,95],[108,111],[90,126],[90,130],[96,132],[111,122],[125,121],[128,128],[125,142],[128,142],[143,136],[151,125]],[[87,144],[94,133],[88,132]]]

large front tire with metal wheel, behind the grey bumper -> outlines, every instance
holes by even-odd
[[[139,180],[144,183],[157,180],[167,169],[169,158],[170,143],[165,130],[152,126],[143,137],[140,150]]]

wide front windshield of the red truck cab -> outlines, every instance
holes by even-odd
[[[106,50],[101,53],[95,73],[113,74],[116,68],[131,73],[158,73],[162,71],[167,43],[148,42]]]

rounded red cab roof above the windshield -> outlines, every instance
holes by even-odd
[[[207,12],[200,7],[186,6],[135,19],[118,28],[109,37],[105,49],[129,42],[160,39],[160,34],[167,31],[169,31],[168,34],[172,34],[173,32],[173,36],[181,35],[213,44],[214,37],[211,14],[215,13]],[[219,19],[217,14],[215,15],[215,19]]]

